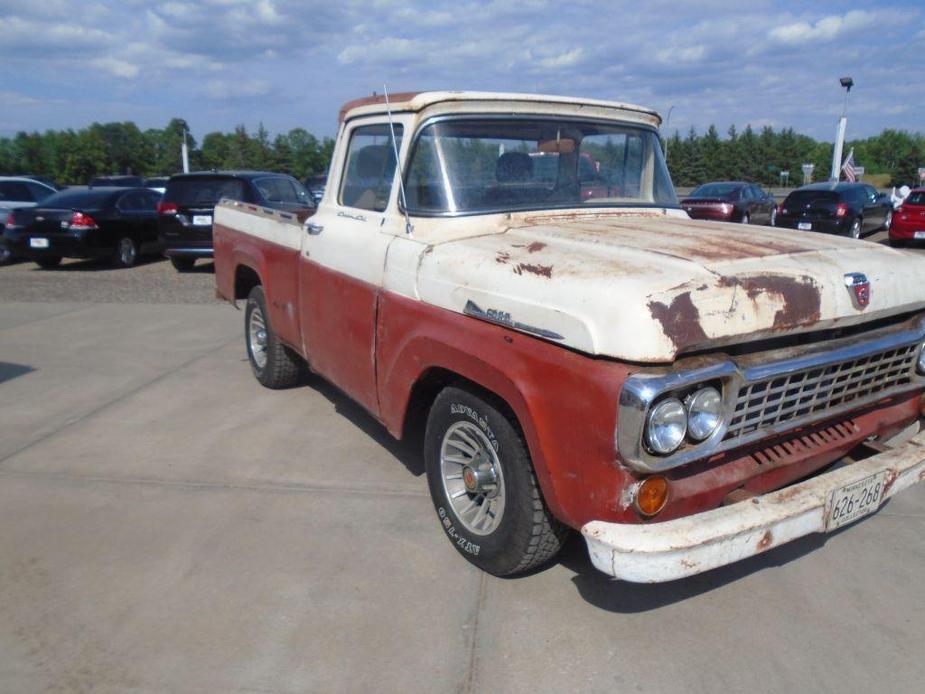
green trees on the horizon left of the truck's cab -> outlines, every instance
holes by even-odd
[[[186,121],[174,118],[163,129],[141,130],[123,122],[18,132],[0,138],[0,175],[46,176],[64,185],[105,175],[166,176],[183,170],[184,131],[188,133]],[[271,139],[263,125],[253,133],[243,125],[230,133],[210,132],[201,143],[187,134],[186,143],[191,171],[256,169],[289,173],[300,180],[324,173],[334,149],[331,138],[319,140],[304,128]]]

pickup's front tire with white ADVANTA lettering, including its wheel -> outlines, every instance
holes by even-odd
[[[568,529],[547,509],[520,428],[494,396],[445,388],[427,417],[424,459],[443,530],[472,564],[510,576],[562,548]]]

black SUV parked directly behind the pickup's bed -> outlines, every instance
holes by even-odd
[[[292,176],[266,171],[210,171],[177,174],[157,206],[161,251],[180,272],[196,258],[212,257],[212,212],[222,198],[308,216],[311,194]]]

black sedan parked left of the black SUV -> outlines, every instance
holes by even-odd
[[[10,212],[3,240],[16,255],[42,267],[62,258],[111,258],[131,267],[157,251],[157,203],[148,188],[63,190],[38,207]]]

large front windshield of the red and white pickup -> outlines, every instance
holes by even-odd
[[[654,131],[551,118],[425,126],[406,168],[405,195],[412,214],[678,204]]]

